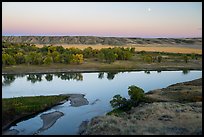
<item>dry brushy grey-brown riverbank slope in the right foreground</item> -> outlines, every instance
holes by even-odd
[[[93,118],[82,135],[201,135],[202,78],[156,89],[143,103],[120,115]]]

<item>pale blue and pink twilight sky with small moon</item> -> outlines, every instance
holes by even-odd
[[[3,2],[2,36],[202,37],[202,2]]]

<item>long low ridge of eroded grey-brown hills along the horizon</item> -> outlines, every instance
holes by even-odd
[[[119,38],[95,36],[2,36],[3,42],[31,44],[195,44],[202,45],[202,38]]]

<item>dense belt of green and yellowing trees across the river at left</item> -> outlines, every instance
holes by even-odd
[[[135,48],[102,48],[100,50],[87,47],[84,50],[78,48],[64,48],[62,46],[36,47],[34,44],[15,44],[2,42],[2,64],[82,64],[84,58],[97,58],[98,61],[112,63],[115,60],[129,60]]]

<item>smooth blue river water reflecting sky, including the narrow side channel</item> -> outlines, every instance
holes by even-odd
[[[107,73],[104,74],[103,79],[98,78],[98,73],[82,73],[82,75],[83,81],[61,80],[57,76],[53,76],[52,81],[47,81],[45,75],[43,75],[42,81],[36,83],[27,81],[26,77],[18,77],[10,86],[2,86],[2,97],[84,93],[89,103],[99,99],[94,105],[71,107],[67,102],[43,112],[48,113],[57,110],[65,115],[59,118],[52,127],[40,134],[75,134],[82,121],[94,116],[104,115],[107,111],[110,111],[109,101],[115,94],[127,98],[130,85],[139,86],[147,92],[178,82],[201,78],[202,71],[190,71],[188,74],[183,74],[182,71],[162,71],[160,73],[151,71],[150,74],[144,73],[144,71],[123,72],[116,74],[112,80],[107,79]],[[18,129],[21,134],[33,134],[42,126],[41,114],[20,122],[11,129]]]

